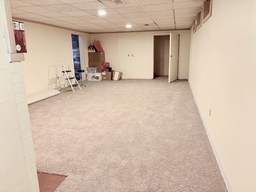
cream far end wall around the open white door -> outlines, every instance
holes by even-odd
[[[180,33],[179,79],[188,78],[189,30],[91,34],[91,43],[99,40],[105,60],[122,78],[152,79],[154,76],[154,35]],[[128,54],[130,56],[128,57]],[[133,57],[131,55],[134,54]]]

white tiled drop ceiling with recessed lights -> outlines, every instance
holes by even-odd
[[[188,29],[204,0],[10,0],[13,18],[88,33]],[[103,10],[105,15],[99,15]],[[127,28],[130,24],[132,27]]]

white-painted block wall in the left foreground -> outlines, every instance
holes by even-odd
[[[2,7],[0,3],[0,10]],[[8,12],[8,10],[6,10]],[[0,12],[0,191],[39,192],[21,62],[9,62]]]

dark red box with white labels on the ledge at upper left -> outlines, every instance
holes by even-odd
[[[27,46],[26,46],[24,23],[18,22],[18,21],[12,21],[12,23],[13,23],[17,53],[26,53]]]

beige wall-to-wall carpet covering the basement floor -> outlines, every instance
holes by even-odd
[[[188,81],[86,82],[28,106],[57,192],[227,192]]]

